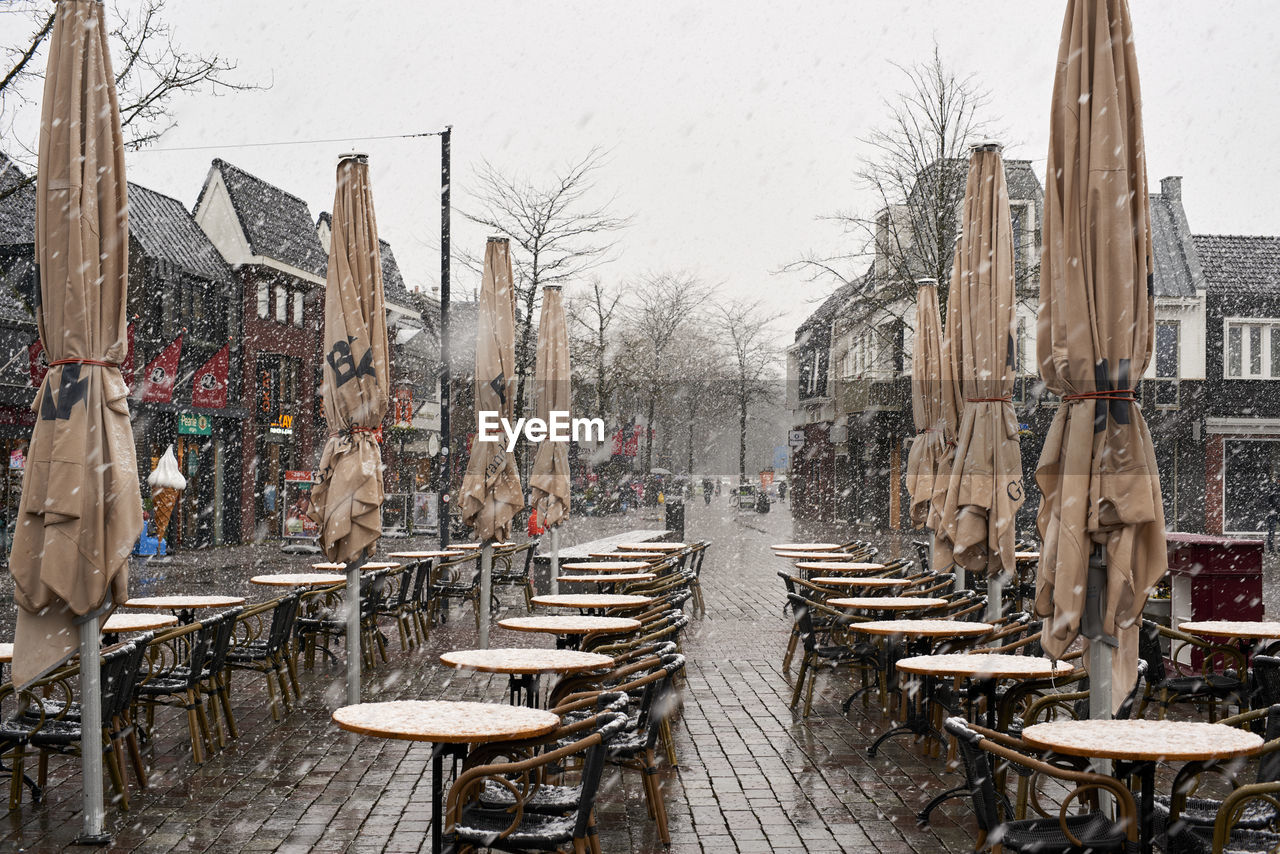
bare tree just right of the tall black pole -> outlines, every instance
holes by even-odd
[[[525,385],[534,369],[534,314],[541,288],[564,284],[612,259],[616,234],[631,220],[611,209],[614,200],[593,201],[604,152],[593,149],[545,184],[500,172],[488,160],[475,170],[475,207],[462,215],[513,245],[516,277],[516,417],[525,410]],[[480,260],[463,255],[479,268]]]

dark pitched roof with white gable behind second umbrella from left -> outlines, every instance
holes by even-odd
[[[307,204],[220,157],[214,159],[212,165],[227,184],[250,250],[324,277],[329,256],[320,245]],[[209,187],[207,182],[205,187]],[[200,195],[204,197],[205,191],[201,189]],[[200,207],[198,200],[196,207]]]

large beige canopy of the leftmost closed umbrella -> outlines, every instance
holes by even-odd
[[[142,530],[125,356],[124,140],[102,4],[59,3],[36,177],[36,323],[50,360],[9,557],[18,604],[13,680],[77,645],[73,616],[128,598]]]

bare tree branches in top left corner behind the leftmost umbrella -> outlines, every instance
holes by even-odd
[[[33,141],[22,140],[14,127],[38,100],[45,77],[44,54],[54,31],[52,3],[28,0],[6,9],[31,18],[28,35],[0,49],[5,70],[0,74],[0,124],[14,160],[35,166]],[[132,149],[150,145],[174,127],[173,99],[188,92],[223,93],[265,88],[236,78],[237,63],[223,54],[191,52],[177,42],[165,18],[168,0],[138,0],[111,5],[108,13],[111,65],[120,102],[124,141]],[[28,183],[35,181],[35,169]],[[23,184],[24,186],[24,184]],[[20,189],[10,187],[9,195]]]

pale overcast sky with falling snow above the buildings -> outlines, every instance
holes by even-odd
[[[1280,4],[1132,0],[1152,187],[1184,175],[1197,233],[1280,233]],[[335,157],[371,157],[381,236],[411,286],[438,283],[435,140],[233,147],[454,128],[454,205],[471,165],[543,178],[593,146],[611,151],[602,197],[635,216],[626,279],[687,270],[763,300],[780,339],[831,289],[773,271],[836,246],[817,220],[873,204],[852,173],[859,142],[902,87],[893,63],[943,59],[991,91],[1006,157],[1043,169],[1065,4],[436,3],[218,0],[170,4],[178,41],[239,61],[262,92],[191,97],[129,178],[188,205],[221,156],[306,198],[333,202]],[[5,18],[0,15],[0,19]],[[13,15],[12,18],[17,18]],[[0,20],[0,27],[5,23]],[[0,32],[4,32],[0,29]],[[225,146],[173,151],[189,146]],[[454,215],[454,241],[485,233]],[[475,283],[454,265],[456,287]]]

